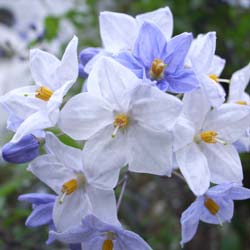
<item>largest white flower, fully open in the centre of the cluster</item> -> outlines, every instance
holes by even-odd
[[[63,107],[58,122],[84,146],[88,166],[111,170],[128,163],[129,170],[170,174],[171,129],[182,109],[174,96],[143,84],[129,69],[111,58],[96,63],[88,92]]]

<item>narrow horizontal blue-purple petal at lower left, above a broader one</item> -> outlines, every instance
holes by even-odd
[[[22,194],[18,196],[19,201],[27,201],[35,205],[54,202],[55,199],[56,199],[56,195],[53,195],[53,194],[31,193],[31,194]]]

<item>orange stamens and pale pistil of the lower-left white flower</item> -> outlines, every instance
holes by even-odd
[[[85,188],[87,184],[86,177],[83,174],[78,174],[76,179],[71,179],[62,185],[59,203],[62,204],[66,195],[74,193],[79,187]]]

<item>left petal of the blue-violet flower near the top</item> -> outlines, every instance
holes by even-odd
[[[143,65],[130,52],[122,52],[113,57],[116,61],[131,69],[139,78],[143,78]]]

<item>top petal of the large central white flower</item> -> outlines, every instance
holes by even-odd
[[[88,92],[104,98],[119,110],[122,107],[124,92],[140,83],[141,80],[131,70],[114,59],[101,57],[89,75]]]

